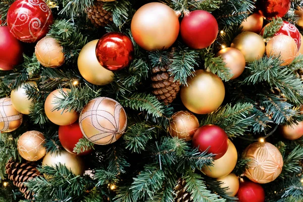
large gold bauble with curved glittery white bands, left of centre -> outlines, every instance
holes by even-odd
[[[127,117],[123,107],[114,99],[98,97],[83,108],[79,124],[89,141],[95,144],[111,144],[126,129]]]

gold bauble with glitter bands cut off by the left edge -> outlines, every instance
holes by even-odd
[[[12,132],[16,130],[23,120],[23,114],[18,112],[12,105],[11,98],[0,99],[0,131]]]

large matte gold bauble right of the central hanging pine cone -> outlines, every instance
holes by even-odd
[[[216,74],[197,70],[194,77],[188,77],[187,84],[181,88],[181,100],[189,111],[208,114],[221,106],[225,87]]]

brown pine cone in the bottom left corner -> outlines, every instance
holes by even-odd
[[[33,192],[31,192],[23,182],[27,182],[40,175],[36,166],[37,165],[32,162],[19,163],[10,159],[5,167],[8,178],[13,181],[15,186],[19,187],[19,190],[24,194],[25,198],[29,200],[34,199]]]

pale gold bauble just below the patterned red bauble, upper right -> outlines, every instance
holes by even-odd
[[[295,58],[298,49],[297,44],[287,35],[277,35],[272,37],[266,45],[266,55],[268,57],[279,57],[284,61],[281,65],[289,65]]]

